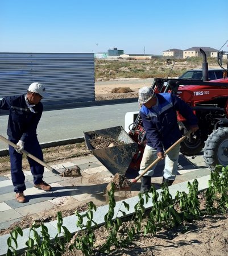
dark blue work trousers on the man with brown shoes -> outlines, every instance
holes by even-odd
[[[14,139],[9,138],[13,143],[18,143]],[[36,156],[43,161],[43,152],[38,142],[37,137],[29,138],[24,143],[24,150],[28,151],[30,154]],[[11,164],[11,177],[14,185],[14,191],[16,193],[23,192],[26,190],[26,185],[24,184],[24,173],[22,171],[22,154],[15,151],[14,147],[9,145],[10,153],[10,164]],[[30,164],[30,170],[34,178],[34,184],[39,184],[43,180],[44,167],[37,163],[35,160],[27,156],[28,163]]]

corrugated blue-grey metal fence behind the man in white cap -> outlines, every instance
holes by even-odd
[[[94,53],[0,53],[0,98],[42,83],[44,105],[95,101]]]

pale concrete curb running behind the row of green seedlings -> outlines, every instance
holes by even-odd
[[[204,191],[205,189],[208,188],[208,181],[210,179],[210,175],[208,176],[204,176],[204,177],[200,177],[198,178],[198,191]],[[178,183],[175,185],[172,185],[171,187],[169,187],[169,193],[171,194],[172,198],[174,199],[176,196],[177,191],[180,192],[189,192],[188,189],[188,182],[192,183],[193,180],[189,180],[189,181],[185,181],[183,183]],[[161,189],[157,189],[157,192],[160,194]],[[149,194],[150,195],[150,194]],[[122,202],[125,201],[127,204],[129,204],[130,208],[129,210],[127,210]],[[123,212],[126,213],[126,216],[130,216],[132,214],[135,213],[135,204],[138,203],[139,201],[139,197],[135,196],[135,197],[131,197],[129,199],[125,199],[122,201],[118,201],[116,203],[115,206],[115,213],[114,213],[114,217],[123,217],[122,212],[119,211],[119,209],[121,209]],[[151,209],[153,206],[152,200],[149,200],[148,203],[144,204],[145,209]],[[93,221],[95,221],[97,223],[98,226],[101,226],[105,223],[104,221],[104,216],[107,213],[107,210],[109,208],[109,205],[103,205],[101,207],[97,208],[97,211],[94,212],[94,216],[93,216]],[[82,212],[80,214],[83,214],[85,212]],[[84,220],[86,222],[86,220]],[[67,227],[67,229],[69,230],[69,232],[71,232],[71,234],[74,234],[78,231],[80,231],[80,228],[77,228],[77,226],[75,225],[75,223],[77,222],[77,216],[76,215],[72,215],[69,217],[65,217],[63,218],[63,225]],[[84,223],[85,223],[84,222]],[[55,237],[57,234],[57,221],[51,221],[48,222],[47,224],[45,224],[45,226],[47,226],[48,228],[48,232],[50,234],[51,237]],[[38,233],[40,234],[40,229],[38,230]],[[28,240],[28,234],[29,234],[29,229],[24,229],[23,230],[23,237],[18,236],[17,242],[18,242],[18,251],[24,251],[26,250],[26,241]],[[10,237],[10,234],[6,234],[3,236],[0,236],[0,255],[5,255],[7,253],[7,238]]]

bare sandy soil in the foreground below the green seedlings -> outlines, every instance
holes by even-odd
[[[204,203],[202,203],[204,204]],[[228,255],[228,218],[227,214],[201,216],[199,220],[184,222],[172,229],[163,227],[155,236],[138,233],[138,236],[125,248],[119,248],[110,254],[115,256],[189,256],[189,255]],[[146,219],[142,220],[142,226]],[[129,221],[123,222],[121,230],[127,233]],[[125,231],[126,230],[126,231]],[[95,231],[95,246],[102,245],[108,233],[102,226]],[[74,236],[75,237],[75,236]],[[75,253],[75,254],[74,254]],[[80,251],[67,252],[64,256],[82,255]]]

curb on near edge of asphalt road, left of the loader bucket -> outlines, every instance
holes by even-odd
[[[74,143],[82,143],[84,142],[84,137],[76,137],[76,138],[69,138],[69,139],[61,139],[60,141],[49,141],[40,143],[41,148],[48,148],[48,147],[56,147],[56,146],[63,146],[67,144],[74,144]],[[0,156],[7,156],[9,155],[9,149],[4,148],[0,150]]]

